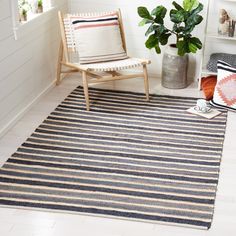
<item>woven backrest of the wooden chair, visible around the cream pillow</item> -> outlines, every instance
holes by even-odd
[[[75,55],[76,53],[78,53],[75,46],[75,37],[73,34],[71,17],[96,17],[100,15],[111,14],[114,12],[117,13],[118,15],[122,44],[123,44],[123,48],[125,52],[127,52],[124,26],[123,26],[120,9],[117,11],[112,11],[112,12],[77,13],[77,14],[65,14],[65,15],[63,15],[60,11],[58,12],[60,29],[61,29],[61,39],[62,39],[64,57],[65,57],[66,62],[70,61],[71,55]]]

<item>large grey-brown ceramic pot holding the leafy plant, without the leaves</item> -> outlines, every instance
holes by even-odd
[[[162,86],[170,89],[187,87],[188,55],[178,55],[175,44],[169,45],[162,62]]]

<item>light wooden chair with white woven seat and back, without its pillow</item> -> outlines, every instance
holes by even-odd
[[[122,43],[125,51],[126,42],[124,35],[124,28],[122,23],[121,12],[118,10],[120,31],[122,37]],[[58,12],[59,23],[61,29],[61,44],[59,49],[58,58],[58,69],[57,69],[57,85],[60,84],[62,76],[66,76],[68,73],[82,73],[84,96],[86,100],[86,108],[90,110],[89,102],[89,91],[88,86],[90,84],[104,83],[108,81],[132,79],[132,78],[144,78],[144,88],[146,93],[146,100],[149,101],[149,83],[148,83],[148,73],[147,64],[151,62],[146,59],[138,58],[128,58],[125,60],[104,62],[104,63],[94,63],[94,64],[79,64],[79,56],[75,47],[75,40],[73,36],[73,31],[71,30],[71,23],[69,17],[71,16],[88,16],[88,14],[66,14],[62,15]],[[96,13],[89,16],[96,16]],[[62,67],[67,68],[63,70]],[[141,72],[121,74],[120,71],[126,69],[142,68]],[[140,70],[139,70],[140,71]],[[104,75],[105,74],[105,75]]]

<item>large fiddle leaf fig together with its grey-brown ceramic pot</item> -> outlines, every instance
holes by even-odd
[[[167,88],[184,88],[187,86],[188,54],[196,53],[202,48],[199,38],[192,35],[193,30],[199,25],[203,17],[199,13],[203,4],[198,0],[184,0],[182,5],[175,1],[174,9],[170,10],[172,28],[165,25],[167,9],[157,6],[150,13],[146,7],[139,7],[138,14],[143,20],[140,26],[149,25],[145,45],[161,53],[161,45],[166,45],[170,36],[175,36],[175,43],[169,45],[164,53],[162,64],[162,85]]]

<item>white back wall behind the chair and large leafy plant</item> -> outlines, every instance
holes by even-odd
[[[68,0],[68,3],[70,12],[104,11],[121,8],[129,55],[151,59],[152,65],[150,66],[150,73],[155,76],[160,76],[162,55],[157,55],[154,50],[150,51],[145,48],[145,28],[138,26],[140,18],[137,14],[137,7],[146,6],[149,10],[152,10],[157,5],[163,5],[171,9],[172,1],[173,0]],[[201,0],[203,4],[207,4],[207,1],[208,0]],[[182,0],[176,0],[176,2],[181,3]],[[203,12],[203,15],[205,14],[206,9]],[[168,22],[168,24],[170,24],[170,22]],[[205,24],[203,23],[195,31],[195,34],[203,39],[204,32]],[[197,78],[200,58],[200,53],[190,56],[189,77]]]

